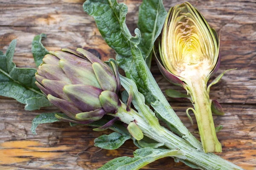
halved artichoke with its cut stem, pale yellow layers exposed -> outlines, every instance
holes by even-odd
[[[207,81],[219,65],[219,40],[216,31],[190,3],[172,7],[163,27],[157,64],[173,84],[186,89],[195,107],[204,151],[221,152],[212,119]]]

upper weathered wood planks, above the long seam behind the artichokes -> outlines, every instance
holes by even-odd
[[[177,3],[167,2],[166,7]],[[2,16],[0,48],[5,50],[9,42],[17,38],[14,58],[17,66],[35,66],[30,50],[31,42],[36,34],[42,32],[48,35],[44,44],[49,50],[82,47],[96,50],[95,53],[102,59],[114,57],[113,50],[102,40],[92,17],[82,11],[82,3],[56,3],[56,1],[45,3],[44,5],[16,2],[0,7]],[[137,21],[137,15],[134,16],[134,13],[137,13],[139,4],[135,1],[128,1],[127,4],[129,7],[127,23],[133,31]],[[256,8],[255,3],[220,1],[220,3],[205,4],[197,1],[193,4],[196,4],[217,31],[221,28],[221,67],[214,77],[225,69],[238,68],[236,71],[226,73],[222,81],[212,87],[212,99],[218,99],[222,103],[255,103],[256,27],[253,25],[256,23],[256,14],[253,13],[253,9]],[[153,66],[152,71],[157,80],[162,79],[157,67]],[[165,79],[160,80],[160,84],[163,90],[170,86]]]

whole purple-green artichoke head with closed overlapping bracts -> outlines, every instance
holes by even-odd
[[[116,112],[121,85],[108,65],[82,48],[49,53],[38,67],[35,83],[67,115],[56,114],[58,119],[89,124]]]

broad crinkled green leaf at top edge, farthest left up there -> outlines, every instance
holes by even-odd
[[[118,54],[131,56],[130,47],[119,26],[119,4],[116,0],[87,0],[83,8],[87,14],[94,17],[107,44]]]

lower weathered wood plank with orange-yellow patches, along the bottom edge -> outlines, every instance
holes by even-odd
[[[180,102],[172,104],[189,130],[191,132],[198,131],[197,126],[192,126],[186,117],[185,110],[188,105],[189,103]],[[101,150],[94,154],[80,153],[83,150],[90,152],[99,150],[99,148],[93,147],[93,139],[102,134],[108,134],[110,131],[94,132],[92,127],[70,127],[65,122],[39,125],[38,135],[33,136],[30,132],[31,120],[38,115],[38,111],[23,111],[23,106],[12,99],[0,100],[0,143],[2,143],[0,153],[5,153],[3,162],[0,162],[2,166],[8,167],[15,161],[16,167],[23,168],[45,166],[47,169],[58,167],[59,169],[84,168],[91,170],[118,156],[132,156],[131,150],[136,149],[132,141],[128,141],[118,150]],[[253,170],[256,167],[256,132],[254,130],[256,127],[256,115],[254,114],[256,106],[225,104],[224,107],[226,108],[226,115],[214,116],[215,125],[224,126],[224,129],[217,134],[223,146],[223,153],[218,155],[245,169]],[[48,110],[48,112],[51,111]],[[192,119],[195,122],[194,115],[192,115]],[[9,158],[9,153],[14,154],[12,155],[13,159]],[[75,156],[78,153],[80,153],[79,156]],[[20,154],[29,157],[22,157]],[[24,162],[21,159],[29,160]],[[185,165],[175,164],[171,158],[156,161],[148,166],[152,170],[168,167],[175,167],[176,170],[186,169]]]

